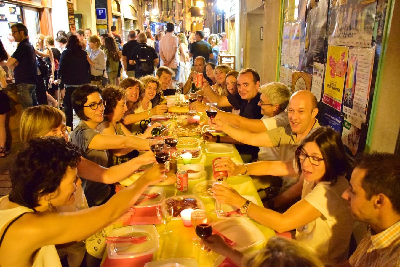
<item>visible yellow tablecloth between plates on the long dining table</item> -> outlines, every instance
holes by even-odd
[[[204,121],[203,121],[204,123]],[[172,124],[173,127],[173,124]],[[199,143],[202,141],[201,135],[198,135],[197,137],[199,139]],[[218,155],[218,154],[206,154],[203,148],[202,151],[202,156],[198,164],[203,165],[204,169],[207,173],[206,177],[202,179],[201,181],[205,180],[213,180],[213,174],[212,174],[212,160],[215,157],[220,157],[224,155]],[[233,151],[233,155],[231,154],[230,156],[232,158],[232,161],[235,163],[243,163],[240,154],[236,150],[236,148]],[[178,162],[179,163],[179,162]],[[178,164],[178,169],[181,167],[182,164]],[[194,195],[192,190],[194,185],[197,183],[200,183],[201,181],[196,181],[192,182],[189,180],[188,182],[188,190],[187,191],[179,191],[176,189],[176,185],[165,185],[164,190],[166,192],[166,198],[172,197],[172,196],[179,196],[179,195]],[[250,195],[254,197],[257,201],[257,205],[262,206],[262,201],[257,193],[256,187],[254,186],[254,183],[252,182],[252,179],[249,175],[238,175],[235,177],[228,177],[227,179],[229,187],[234,188],[240,195]],[[215,200],[210,199],[210,198],[200,198],[201,201],[203,201],[207,214],[212,217],[214,223],[218,221],[222,221],[224,219],[220,219],[212,213],[215,209]],[[261,233],[264,235],[266,241],[271,236],[275,235],[274,230],[265,227],[264,225],[261,225],[257,223],[256,221],[247,218],[246,220],[250,220],[251,223],[253,223],[258,229],[260,229]],[[132,223],[133,224],[133,223]],[[121,225],[116,225],[115,227],[120,227]],[[164,225],[162,224],[155,224],[157,231],[160,233],[164,229]],[[192,238],[196,236],[196,233],[194,231],[194,227],[185,227],[182,223],[182,220],[171,220],[168,223],[168,229],[173,231],[172,237],[169,239],[160,239],[159,242],[159,248],[154,253],[154,259],[153,261],[159,261],[159,260],[164,260],[164,259],[171,259],[171,258],[194,258],[198,262],[198,265],[200,267],[212,267],[214,265],[214,262],[216,261],[217,257],[219,256],[218,254],[211,252],[207,253],[206,251],[199,249],[196,245],[192,243]],[[253,251],[255,249],[260,249],[263,246],[265,246],[265,243],[263,244],[258,244],[254,247],[251,247],[249,249],[246,249],[245,252],[247,251]],[[103,261],[102,261],[102,267],[108,267],[108,266],[128,266],[129,261],[124,261],[122,259],[109,259],[107,256],[107,251],[104,254]],[[137,266],[137,265],[131,265],[131,266]],[[156,266],[156,265],[154,265]],[[168,265],[170,266],[170,265]],[[175,265],[174,265],[175,266]]]

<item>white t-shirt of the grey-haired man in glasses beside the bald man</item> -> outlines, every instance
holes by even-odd
[[[288,114],[284,111],[276,116],[268,117],[264,115],[261,118],[267,130],[278,128],[289,123]],[[278,161],[279,147],[259,147],[258,161]]]

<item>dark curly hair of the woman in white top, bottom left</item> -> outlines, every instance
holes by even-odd
[[[40,137],[29,141],[17,155],[11,169],[10,201],[34,209],[38,200],[60,186],[68,167],[81,159],[79,147],[61,137]]]

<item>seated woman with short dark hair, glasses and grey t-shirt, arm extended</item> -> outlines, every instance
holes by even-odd
[[[71,143],[82,149],[82,156],[101,166],[109,166],[109,149],[132,148],[150,150],[148,140],[133,135],[104,135],[97,130],[103,121],[104,101],[101,89],[94,84],[84,84],[72,94],[72,107],[81,119],[71,135]],[[112,195],[109,185],[82,179],[82,187],[89,207],[100,205]]]

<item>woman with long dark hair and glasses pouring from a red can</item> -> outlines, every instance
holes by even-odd
[[[216,163],[217,170],[235,175],[292,175],[298,183],[274,199],[269,206],[279,207],[293,201],[293,192],[301,191],[301,200],[284,213],[260,207],[232,188],[214,185],[219,203],[232,205],[258,223],[279,233],[296,229],[296,239],[310,248],[325,265],[347,258],[354,221],[348,204],[341,197],[349,187],[344,177],[347,159],[340,135],[328,127],[312,130],[296,150],[295,161],[259,161],[236,165],[230,158]],[[271,205],[272,204],[272,205]]]

